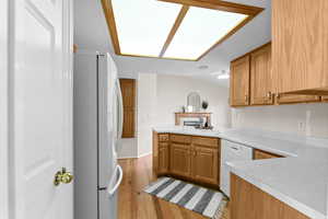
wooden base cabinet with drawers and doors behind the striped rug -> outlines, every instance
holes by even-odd
[[[153,138],[156,175],[180,176],[219,187],[221,147],[218,138],[156,132]]]

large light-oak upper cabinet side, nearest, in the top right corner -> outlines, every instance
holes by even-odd
[[[272,0],[279,93],[328,94],[328,1]]]

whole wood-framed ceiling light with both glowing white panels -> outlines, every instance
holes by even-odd
[[[224,1],[102,0],[117,55],[199,60],[262,9]]]

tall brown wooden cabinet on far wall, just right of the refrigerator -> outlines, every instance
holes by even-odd
[[[136,80],[120,79],[124,102],[122,138],[134,138],[136,129]]]

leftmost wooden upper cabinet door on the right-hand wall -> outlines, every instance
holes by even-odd
[[[249,105],[249,56],[231,62],[230,99],[232,106]]]

